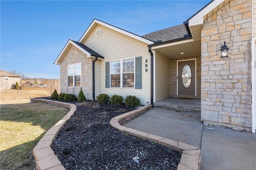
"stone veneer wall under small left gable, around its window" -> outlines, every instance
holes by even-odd
[[[81,87],[68,87],[68,65],[81,63],[81,87],[86,99],[92,100],[92,59],[80,49],[72,46],[60,63],[60,93],[78,96]]]

